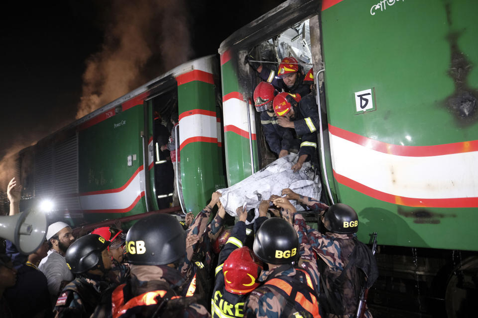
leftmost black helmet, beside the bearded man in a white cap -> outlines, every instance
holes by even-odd
[[[110,241],[97,234],[89,234],[75,240],[66,250],[66,264],[73,274],[86,273],[97,265],[103,265],[101,253]]]

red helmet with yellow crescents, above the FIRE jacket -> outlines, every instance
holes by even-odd
[[[259,286],[256,279],[261,270],[260,260],[249,247],[235,249],[223,265],[226,290],[237,295],[250,293]]]

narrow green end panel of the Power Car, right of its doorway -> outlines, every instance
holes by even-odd
[[[193,80],[179,85],[178,106],[184,209],[196,215],[214,191],[226,186],[222,148],[218,145],[220,109],[216,107],[215,84]],[[198,114],[187,116],[194,112]],[[191,117],[197,118],[191,121]],[[195,139],[188,142],[184,136]]]

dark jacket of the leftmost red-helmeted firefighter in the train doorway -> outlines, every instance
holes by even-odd
[[[270,150],[279,155],[281,150],[289,150],[294,139],[290,128],[281,127],[277,124],[277,116],[269,111],[260,113],[260,124],[264,132],[265,141]]]

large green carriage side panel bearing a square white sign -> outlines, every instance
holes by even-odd
[[[343,0],[322,11],[335,155],[328,176],[338,200],[359,213],[360,239],[376,231],[380,244],[477,250],[476,12],[477,1],[451,0]],[[355,93],[367,89],[374,105],[361,113]],[[375,141],[386,149],[376,150]],[[349,153],[344,163],[341,145],[364,155]],[[423,172],[397,175],[414,163]],[[454,172],[462,166],[468,171]],[[454,233],[459,240],[450,239]]]

